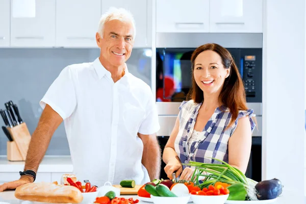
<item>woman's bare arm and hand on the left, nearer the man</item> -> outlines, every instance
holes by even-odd
[[[176,170],[177,170],[176,176],[180,175],[183,171],[180,158],[177,156],[174,150],[174,141],[176,139],[177,133],[179,133],[179,127],[180,127],[180,120],[179,116],[177,116],[173,130],[170,134],[170,137],[163,152],[163,161],[166,164],[164,170],[169,179],[173,179],[172,173],[175,172]]]

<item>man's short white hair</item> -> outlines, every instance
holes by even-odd
[[[103,38],[103,29],[105,23],[111,20],[120,20],[122,22],[129,22],[133,25],[134,35],[133,38],[135,39],[136,36],[136,27],[135,27],[135,19],[130,11],[127,11],[123,8],[115,8],[111,7],[106,13],[101,15],[99,26],[98,26],[98,33],[100,34],[101,38]]]

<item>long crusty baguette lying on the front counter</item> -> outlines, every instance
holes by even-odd
[[[74,186],[56,185],[52,183],[29,183],[16,188],[15,197],[21,200],[50,203],[79,203],[83,195]]]

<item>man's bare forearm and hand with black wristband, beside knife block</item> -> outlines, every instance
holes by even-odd
[[[38,166],[45,155],[50,140],[63,121],[62,117],[50,106],[46,105],[39,119],[36,130],[34,131],[29,145],[27,158],[25,159],[24,170],[37,172]],[[0,192],[15,189],[23,184],[31,183],[34,179],[29,175],[22,175],[20,180],[0,185]]]

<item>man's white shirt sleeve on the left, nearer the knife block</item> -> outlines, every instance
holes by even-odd
[[[65,120],[74,111],[77,106],[77,97],[75,94],[72,74],[69,67],[65,67],[47,92],[40,100],[42,109],[48,104]]]

